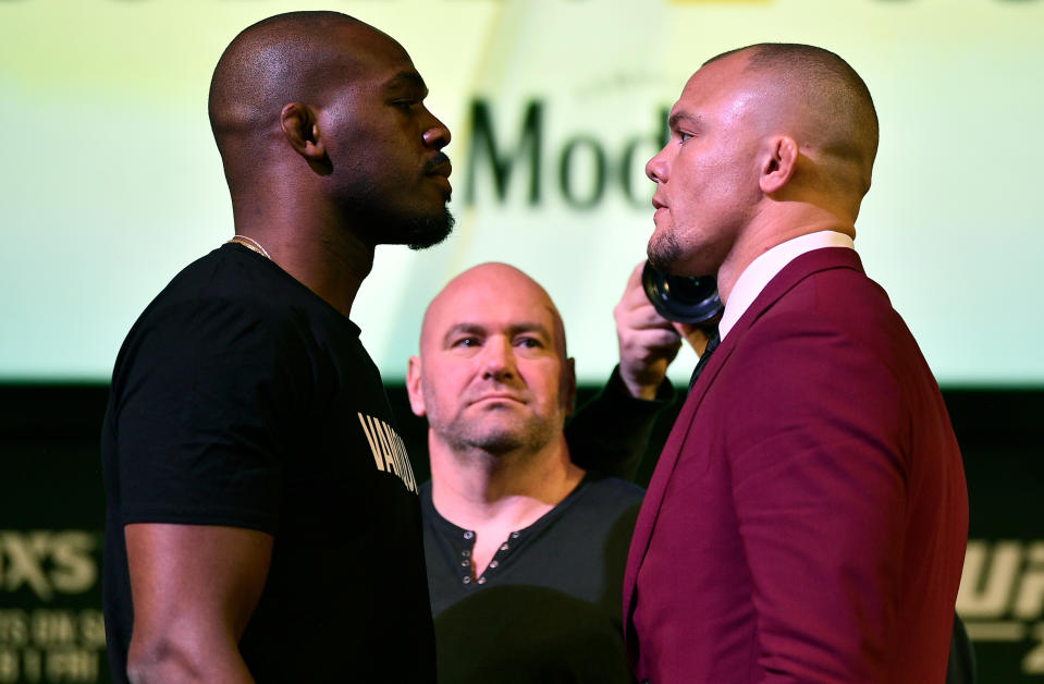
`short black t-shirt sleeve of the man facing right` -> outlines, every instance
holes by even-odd
[[[124,524],[274,534],[290,431],[304,403],[288,338],[221,301],[167,307],[137,330],[118,388]]]

